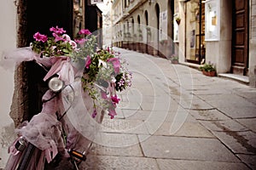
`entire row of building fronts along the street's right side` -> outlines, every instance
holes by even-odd
[[[114,0],[113,45],[256,87],[256,0]]]

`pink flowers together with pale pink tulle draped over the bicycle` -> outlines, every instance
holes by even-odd
[[[44,81],[57,77],[64,84],[61,92],[47,90],[42,111],[16,129],[18,138],[9,147],[11,156],[6,169],[15,169],[22,156],[20,145],[16,147],[20,139],[36,146],[30,169],[43,169],[44,160],[51,162],[57,153],[65,157],[80,155],[84,161],[97,122],[102,122],[105,113],[111,119],[117,115],[117,93],[131,86],[132,74],[125,59],[112,48],[97,48],[96,36],[89,30],[82,29],[74,40],[58,26],[49,31],[52,37],[37,32],[30,47],[4,54],[5,61],[15,61],[16,65],[33,60],[47,71]],[[80,152],[73,154],[73,150]]]

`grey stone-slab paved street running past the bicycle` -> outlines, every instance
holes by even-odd
[[[256,169],[256,89],[116,48],[133,85],[81,169]]]

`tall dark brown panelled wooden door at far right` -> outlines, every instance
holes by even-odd
[[[233,1],[232,67],[234,74],[246,76],[248,62],[248,0]]]

